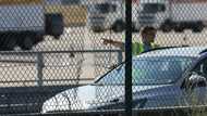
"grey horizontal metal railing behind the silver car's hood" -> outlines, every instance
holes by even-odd
[[[1,60],[0,63],[7,63],[7,64],[16,64],[16,67],[20,67],[19,64],[28,64],[29,66],[35,66],[36,67],[36,79],[35,80],[0,80],[0,83],[17,83],[17,82],[34,82],[34,83],[37,83],[37,87],[40,87],[45,83],[48,83],[48,82],[52,82],[52,81],[78,81],[78,85],[81,85],[82,82],[83,83],[87,83],[87,82],[84,82],[84,81],[92,81],[93,80],[93,77],[89,77],[89,78],[82,78],[80,80],[80,78],[68,78],[68,79],[45,79],[44,78],[44,68],[45,67],[69,67],[69,66],[72,66],[72,65],[75,65],[73,63],[69,63],[66,65],[52,65],[52,64],[45,64],[45,57],[47,57],[47,55],[45,56],[45,54],[52,54],[52,53],[64,53],[64,54],[72,54],[72,55],[76,55],[78,53],[82,53],[82,54],[94,54],[94,53],[118,53],[117,55],[117,61],[118,63],[117,64],[120,64],[122,61],[123,61],[123,56],[122,56],[122,51],[121,50],[71,50],[71,51],[21,51],[21,52],[1,52],[0,54],[2,56],[7,56],[7,55],[17,55],[17,56],[28,56],[31,57],[31,60],[19,60],[19,57],[14,59],[14,60]],[[72,57],[74,57],[72,56]],[[35,57],[35,59],[34,59]],[[99,65],[99,64],[95,64],[95,65]],[[101,65],[101,64],[100,64]],[[100,66],[99,65],[99,66]],[[1,67],[1,66],[0,66]],[[2,67],[7,67],[7,66],[2,66]],[[23,65],[24,67],[24,65]],[[106,66],[107,68],[107,66]],[[73,83],[71,82],[70,85],[76,85],[76,83]]]

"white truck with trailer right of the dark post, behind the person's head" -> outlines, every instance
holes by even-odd
[[[155,26],[162,31],[192,29],[199,33],[207,24],[206,0],[139,0],[139,27]]]

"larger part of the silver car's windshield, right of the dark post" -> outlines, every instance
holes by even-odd
[[[154,57],[135,62],[133,81],[141,85],[173,82],[176,78],[182,77],[187,62],[188,60],[179,57]]]

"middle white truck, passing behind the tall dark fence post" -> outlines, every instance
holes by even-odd
[[[132,4],[133,11],[133,28],[137,26],[137,7],[136,2]],[[89,28],[95,33],[105,30],[113,30],[115,33],[123,31],[125,28],[125,4],[124,0],[108,0],[94,3],[88,7],[88,24]]]

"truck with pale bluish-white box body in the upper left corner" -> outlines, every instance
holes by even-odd
[[[50,35],[63,34],[61,14],[45,13],[44,0],[0,0],[0,51],[31,50]]]

